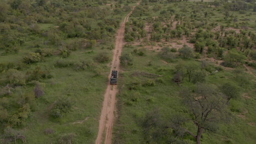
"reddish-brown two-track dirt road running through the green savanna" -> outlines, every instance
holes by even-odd
[[[134,9],[135,7],[133,7]],[[121,27],[117,32],[117,37],[115,40],[115,50],[111,65],[111,70],[120,71],[120,60],[122,48],[124,45],[124,33],[125,33],[125,23],[129,20],[129,16],[132,14],[132,11],[125,17]],[[111,71],[108,77],[110,77]],[[108,84],[106,93],[104,94],[103,107],[101,110],[100,125],[98,129],[98,136],[96,139],[96,144],[101,144],[104,140],[105,144],[112,143],[112,131],[114,124],[114,109],[115,109],[115,95],[118,92],[117,86]],[[105,139],[103,137],[105,136]]]

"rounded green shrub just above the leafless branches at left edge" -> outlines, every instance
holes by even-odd
[[[8,83],[11,83],[13,85],[26,84],[25,74],[23,74],[21,71],[16,69],[9,69],[7,71],[7,80],[8,80]]]

